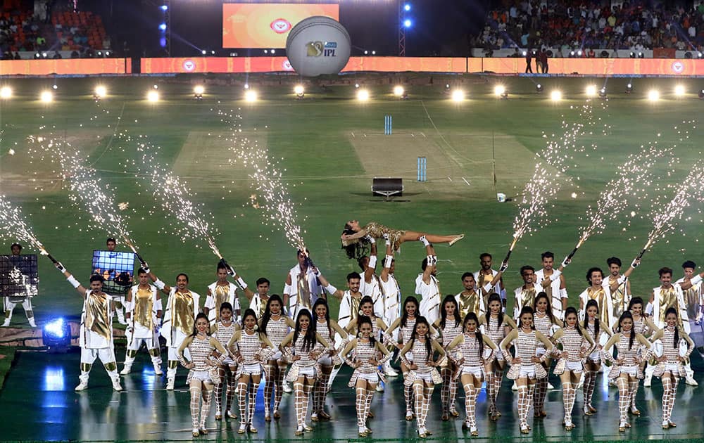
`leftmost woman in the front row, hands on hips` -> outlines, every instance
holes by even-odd
[[[206,435],[206,420],[210,413],[210,393],[213,391],[213,380],[210,378],[210,367],[221,364],[229,355],[227,349],[220,345],[218,340],[210,337],[210,321],[206,314],[196,316],[193,333],[188,335],[178,348],[177,358],[184,368],[191,369],[190,381],[191,391],[191,422],[193,424],[193,436]],[[183,355],[188,348],[191,361],[187,361]],[[220,357],[215,359],[215,363],[210,359],[213,349],[218,349]],[[203,406],[199,410],[200,400],[203,397]]]

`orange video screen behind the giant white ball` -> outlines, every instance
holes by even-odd
[[[222,4],[222,47],[285,48],[291,28],[314,15],[339,20],[339,5]]]

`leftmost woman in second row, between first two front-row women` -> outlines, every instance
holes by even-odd
[[[224,302],[220,305],[220,320],[210,327],[210,335],[213,335],[215,340],[220,342],[220,345],[227,347],[236,330],[239,330],[239,325],[232,321],[232,304]],[[225,357],[222,364],[218,365],[220,380],[218,380],[219,383],[215,383],[215,388],[213,389],[213,394],[215,395],[215,420],[222,420],[222,386],[225,383],[227,383],[225,416],[227,418],[237,418],[237,415],[230,410],[232,399],[234,399],[234,374],[236,370],[237,361],[234,361],[230,356]]]

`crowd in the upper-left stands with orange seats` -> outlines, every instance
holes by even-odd
[[[47,53],[44,58],[62,58],[58,51],[71,51],[72,58],[93,57],[111,49],[99,15],[54,6],[42,16],[21,6],[6,0],[0,8],[0,58],[19,59],[23,51]]]

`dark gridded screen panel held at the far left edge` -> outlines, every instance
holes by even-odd
[[[0,297],[14,303],[38,293],[37,255],[0,255]]]

